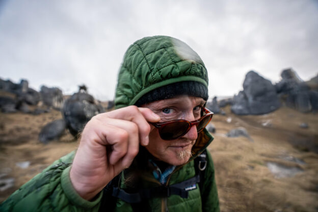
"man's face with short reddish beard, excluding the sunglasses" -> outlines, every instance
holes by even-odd
[[[200,118],[205,101],[200,97],[176,96],[143,105],[161,117],[160,122],[175,119],[194,121]],[[149,144],[146,149],[158,160],[178,166],[185,164],[191,157],[191,149],[198,137],[196,126],[176,140],[166,141],[160,138],[158,129],[151,126]]]

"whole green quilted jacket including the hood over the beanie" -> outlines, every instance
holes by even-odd
[[[116,109],[133,105],[145,93],[171,83],[196,81],[207,87],[207,71],[200,57],[187,44],[166,37],[146,37],[131,45],[124,56],[116,89]],[[203,130],[192,148],[193,156],[187,164],[176,167],[167,186],[190,179],[196,175],[194,158],[213,140]],[[151,141],[150,141],[151,142]],[[81,198],[72,187],[69,171],[75,151],[61,157],[51,166],[25,183],[0,206],[0,211],[98,211],[105,192],[101,191],[92,201]],[[124,177],[124,176],[123,176]],[[145,172],[143,187],[160,184]],[[125,183],[120,181],[125,189]],[[202,191],[189,191],[188,198],[171,195],[148,200],[151,211],[219,211],[219,200],[214,175],[214,165],[207,152]],[[109,208],[104,207],[105,210]],[[121,199],[115,202],[115,211],[133,211],[129,203]]]

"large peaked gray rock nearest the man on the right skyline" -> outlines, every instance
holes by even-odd
[[[279,98],[271,81],[249,71],[243,83],[243,91],[233,98],[231,111],[238,115],[260,115],[275,111],[279,107]]]

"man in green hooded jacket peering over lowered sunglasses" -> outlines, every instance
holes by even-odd
[[[2,209],[219,211],[213,161],[201,154],[213,140],[204,129],[207,83],[203,62],[182,41],[136,41],[118,75],[116,110],[93,117],[75,156],[46,168]]]

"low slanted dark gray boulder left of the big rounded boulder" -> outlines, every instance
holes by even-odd
[[[39,140],[46,144],[48,141],[59,139],[66,129],[64,119],[59,119],[46,124],[40,131]]]

